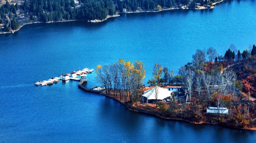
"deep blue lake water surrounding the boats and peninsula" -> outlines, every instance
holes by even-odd
[[[0,35],[0,142],[255,142],[255,131],[193,125],[128,111],[76,81],[36,87],[38,80],[78,68],[141,60],[146,79],[155,62],[178,68],[197,48],[224,54],[233,43],[256,43],[255,0],[211,10],[129,13],[101,23],[72,21],[23,26]],[[88,86],[95,86],[94,73]]]

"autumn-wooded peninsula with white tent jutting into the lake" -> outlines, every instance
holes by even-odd
[[[236,51],[236,53],[235,53]],[[129,110],[194,124],[256,130],[256,47],[240,53],[231,44],[225,55],[197,49],[177,75],[155,63],[150,86],[143,85],[142,61],[98,65],[96,80],[105,95]],[[208,59],[208,60],[206,60]]]

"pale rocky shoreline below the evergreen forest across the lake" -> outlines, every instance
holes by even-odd
[[[160,11],[167,11],[167,10],[176,10],[176,9],[195,9],[195,10],[202,10],[202,9],[212,9],[212,8],[214,8],[215,6],[215,4],[218,4],[218,3],[221,3],[221,2],[223,2],[224,0],[221,0],[221,1],[219,1],[219,2],[215,2],[215,3],[213,3],[213,6],[212,7],[210,7],[210,8],[208,8],[208,7],[204,7],[204,6],[200,6],[199,8],[188,8],[187,6],[182,6],[181,8],[167,8],[167,9],[161,9],[161,10],[159,10],[159,11],[131,11],[131,12],[126,12],[126,13],[137,13],[137,12],[160,12]],[[116,14],[114,14],[114,15],[108,15],[105,19],[102,19],[102,20],[99,20],[99,19],[94,19],[94,20],[87,20],[87,22],[93,22],[93,23],[97,23],[97,22],[103,22],[103,21],[106,21],[106,20],[108,20],[108,18],[112,18],[112,17],[118,17],[118,16],[120,16],[119,15],[119,13],[123,13],[123,12],[118,12],[118,13],[116,13]],[[74,20],[63,20],[63,21],[49,21],[49,22],[40,22],[40,21],[35,21],[35,22],[29,22],[29,23],[24,23],[24,24],[22,24],[22,25],[20,25],[19,26],[19,28],[18,29],[16,29],[16,30],[12,30],[12,31],[10,31],[10,32],[0,32],[0,34],[7,34],[7,33],[14,33],[14,32],[17,32],[17,31],[19,31],[20,30],[20,28],[22,27],[22,26],[24,26],[24,25],[28,25],[28,24],[34,24],[34,23],[54,23],[54,22],[68,22],[68,21],[86,21],[86,20],[76,20],[76,19],[74,19]]]

